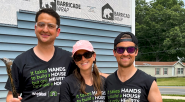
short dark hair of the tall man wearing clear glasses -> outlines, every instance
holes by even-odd
[[[58,25],[58,28],[60,28],[60,16],[58,15],[58,13],[56,11],[54,11],[53,9],[51,8],[44,8],[44,9],[41,9],[39,10],[37,13],[36,13],[36,16],[35,16],[35,22],[37,22],[38,20],[38,17],[41,13],[47,13],[53,17],[55,17],[56,19],[56,24]]]

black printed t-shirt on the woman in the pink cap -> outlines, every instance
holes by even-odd
[[[105,78],[101,76],[104,86]],[[78,79],[71,74],[62,81],[60,102],[105,102],[104,88],[102,87],[102,96],[94,96],[97,91],[93,86],[86,85],[85,92],[87,95],[80,92],[80,83]]]

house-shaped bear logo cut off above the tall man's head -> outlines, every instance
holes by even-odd
[[[43,8],[52,8],[56,11],[56,0],[39,0],[40,9]]]

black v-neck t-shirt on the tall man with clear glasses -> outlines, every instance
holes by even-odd
[[[17,92],[22,93],[22,102],[59,102],[60,85],[71,72],[71,55],[71,52],[55,47],[48,62],[38,58],[33,48],[17,56],[13,61],[12,76]],[[9,80],[5,88],[11,90]]]

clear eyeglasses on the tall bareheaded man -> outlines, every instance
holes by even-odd
[[[39,28],[44,28],[47,25],[48,29],[55,29],[58,28],[57,24],[54,23],[44,23],[44,22],[37,22],[36,26]]]

